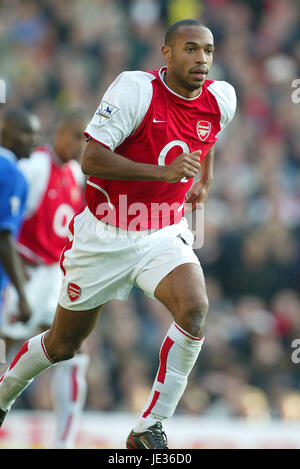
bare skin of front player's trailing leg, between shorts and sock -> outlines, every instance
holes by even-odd
[[[85,311],[71,311],[58,304],[53,323],[45,336],[45,346],[56,361],[72,356],[93,330],[102,306]],[[66,355],[66,356],[65,356]]]

